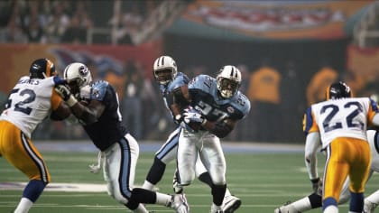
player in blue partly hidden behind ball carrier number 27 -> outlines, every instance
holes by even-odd
[[[189,78],[182,72],[178,72],[178,67],[170,56],[161,56],[157,58],[153,63],[153,76],[155,81],[159,84],[163,101],[166,107],[171,112],[171,116],[175,124],[178,125],[167,139],[166,143],[155,153],[153,165],[146,176],[146,180],[143,183],[143,189],[153,190],[154,186],[162,180],[163,173],[166,169],[167,163],[176,159],[177,148],[179,142],[179,136],[181,133],[180,123],[182,122],[181,112],[189,105],[186,100],[177,100],[179,110],[171,108],[175,98],[175,92],[180,89],[181,86],[189,83]],[[174,110],[173,112],[171,110]],[[196,175],[199,181],[203,181],[212,186],[212,181],[208,171],[198,158],[196,162]],[[174,175],[173,189],[175,193],[182,193],[182,187],[178,184],[176,175]],[[224,198],[223,210],[226,213],[233,213],[241,205],[241,200],[231,195],[230,191],[226,189],[226,196]]]

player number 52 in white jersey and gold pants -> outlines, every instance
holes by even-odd
[[[69,108],[54,91],[55,85],[64,82],[51,60],[34,60],[29,76],[18,80],[0,116],[0,156],[29,178],[15,213],[28,212],[51,181],[42,154],[31,138],[46,117],[61,120],[69,116]]]

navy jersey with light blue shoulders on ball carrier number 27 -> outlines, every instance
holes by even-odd
[[[233,97],[218,95],[216,79],[199,75],[189,81],[190,106],[201,112],[211,122],[221,122],[227,118],[243,119],[250,111],[250,101],[237,91]]]

